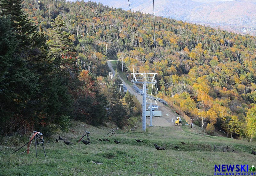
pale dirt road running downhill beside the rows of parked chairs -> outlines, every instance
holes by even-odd
[[[113,69],[112,64],[111,64],[111,60],[108,60],[107,62],[108,62],[108,67],[110,68],[111,72],[115,73],[115,70]],[[123,84],[130,90],[130,93],[132,95],[135,95],[136,98],[139,100],[139,102],[142,104],[142,96],[137,94],[135,92],[135,90],[130,85],[127,85],[121,77],[120,77],[120,79],[123,81]],[[153,117],[152,118],[152,125],[153,126],[174,127],[174,122],[172,122],[172,119],[173,119],[173,121],[175,121],[175,119],[177,117],[177,114],[172,112],[171,109],[164,106],[160,102],[157,102],[157,106],[159,107],[158,110],[162,111],[162,117]],[[148,118],[146,118],[146,125],[150,124],[150,120]]]

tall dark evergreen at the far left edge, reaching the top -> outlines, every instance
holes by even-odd
[[[4,91],[1,91],[0,95],[0,106],[3,113],[1,118],[3,118],[4,132],[6,133],[17,130],[17,128],[21,130],[29,126],[31,115],[35,114],[35,110],[28,110],[27,107],[39,90],[37,73],[33,70],[36,63],[32,60],[32,56],[38,54],[38,52],[34,53],[37,48],[34,45],[34,40],[31,40],[35,30],[21,10],[20,3],[21,1],[18,0],[2,0],[0,3],[2,19],[9,19],[8,23],[4,20],[4,25],[1,25],[3,27],[1,29],[4,32],[1,40],[4,42],[7,38],[10,39],[10,43],[6,42],[3,45],[5,46],[4,50],[6,49],[5,56],[9,57],[9,66],[6,65],[7,67],[3,70],[4,79],[0,82],[4,86]],[[12,35],[11,38],[8,33]],[[13,40],[15,40],[15,44],[13,44]],[[8,45],[8,43],[12,46]],[[14,119],[19,120],[14,121],[15,123],[12,124],[11,128],[10,122]]]

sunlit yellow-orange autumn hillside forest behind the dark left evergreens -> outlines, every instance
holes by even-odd
[[[68,93],[73,92],[72,105],[79,104],[74,92],[84,96],[77,90],[79,86],[70,81],[75,70],[76,75],[88,72],[98,80],[106,80],[106,59],[121,57],[130,73],[132,69],[140,73],[156,72],[158,96],[166,96],[191,118],[205,119],[233,137],[251,140],[255,137],[255,37],[155,17],[155,57],[152,15],[96,3],[93,6],[107,32],[90,2],[26,0],[22,3],[28,18],[40,26],[39,32],[44,34],[54,58],[51,61],[59,58],[60,68],[66,71],[60,71],[59,76],[68,80]],[[59,29],[65,35],[56,31],[57,21],[63,22]],[[65,51],[56,43],[58,35],[68,39]],[[73,115],[80,116],[78,111]]]

